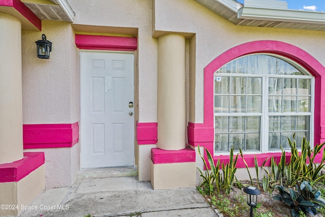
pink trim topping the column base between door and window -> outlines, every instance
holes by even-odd
[[[153,164],[195,162],[196,153],[195,150],[189,147],[181,150],[163,150],[160,148],[152,148],[151,161]]]

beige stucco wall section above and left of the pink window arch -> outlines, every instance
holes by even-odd
[[[321,46],[325,44],[325,38],[321,31],[236,26],[195,1],[153,1],[156,32],[196,34],[195,42],[191,39],[190,43],[190,50],[195,49],[190,52],[196,54],[195,79],[190,77],[190,88],[192,88],[190,93],[195,91],[195,99],[192,101],[190,98],[190,121],[192,122],[203,122],[204,67],[215,57],[236,45],[256,40],[282,41],[300,47],[325,65],[325,53]],[[195,105],[192,105],[193,103]],[[192,116],[193,114],[195,117]]]

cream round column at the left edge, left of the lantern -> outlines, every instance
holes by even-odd
[[[23,158],[21,23],[0,13],[0,164]]]

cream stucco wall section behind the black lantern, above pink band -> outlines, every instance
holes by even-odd
[[[50,59],[37,57],[42,34],[53,43]],[[43,21],[42,32],[22,32],[23,123],[79,121],[79,79],[70,23]]]

